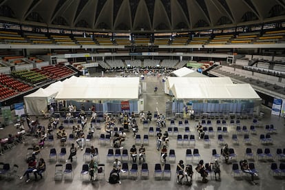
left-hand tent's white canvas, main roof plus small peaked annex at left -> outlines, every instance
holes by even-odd
[[[51,98],[57,100],[138,100],[140,83],[138,77],[76,77],[52,83],[45,89],[24,96],[25,107],[31,115],[47,112]]]

